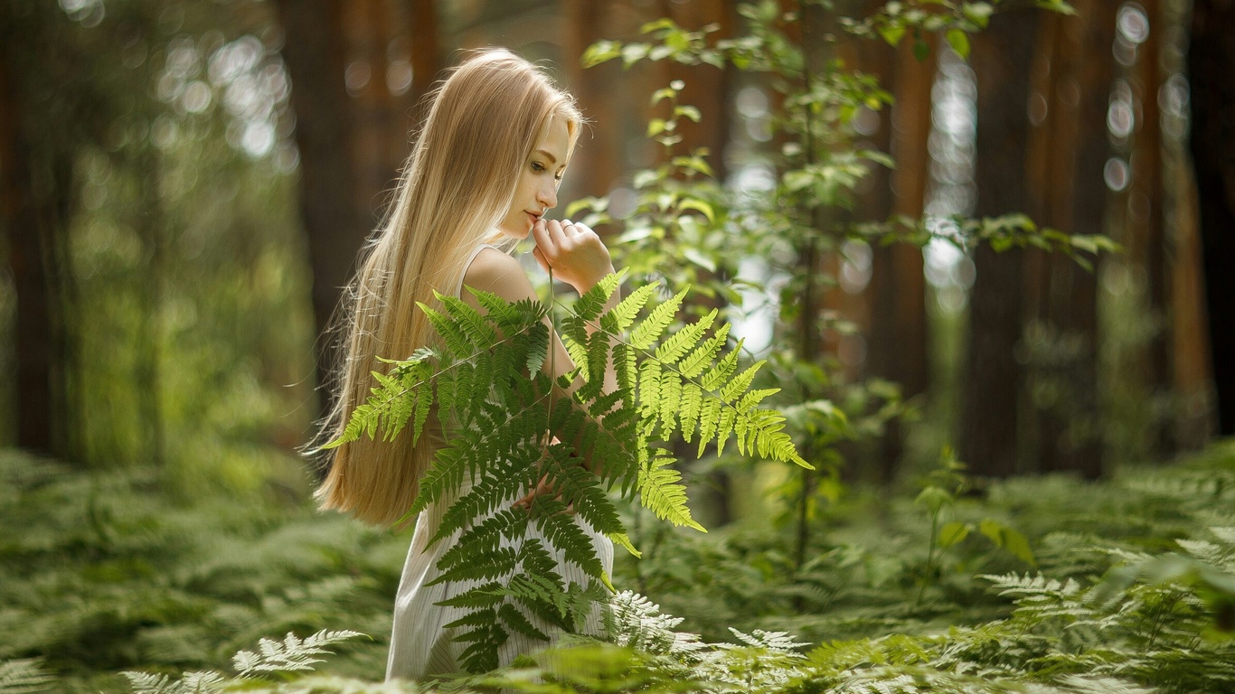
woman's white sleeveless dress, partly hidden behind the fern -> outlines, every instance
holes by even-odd
[[[472,264],[472,261],[483,248],[495,248],[494,246],[480,246],[473,251],[472,256],[463,264],[454,295],[459,296],[463,288],[463,274]],[[467,485],[467,482],[464,482]],[[509,508],[516,499],[521,499],[526,489],[511,489],[509,501],[499,509]],[[408,550],[408,561],[403,566],[403,577],[399,580],[399,592],[394,600],[394,629],[390,633],[390,654],[387,659],[387,680],[394,678],[421,679],[425,675],[446,674],[462,672],[459,664],[463,650],[467,643],[461,643],[453,638],[462,633],[462,629],[446,629],[445,625],[462,617],[467,610],[461,608],[443,608],[436,605],[442,600],[453,598],[479,582],[443,582],[436,585],[425,585],[432,582],[440,572],[435,568],[437,561],[447,550],[458,541],[461,531],[456,531],[450,537],[443,537],[432,547],[427,547],[429,540],[437,532],[437,526],[453,498],[440,499],[420,512],[416,517],[416,530],[411,537],[411,547]],[[600,535],[587,521],[574,516],[574,522],[583,529],[592,538],[593,547],[606,574],[613,573],[614,546],[604,535]],[[545,541],[535,525],[530,525],[526,537]],[[562,553],[553,551],[545,542],[546,548],[557,559],[557,572],[562,580],[569,585],[573,583],[587,584],[589,578],[578,566],[566,562]],[[522,610],[521,610],[522,611]],[[561,635],[557,630],[542,620],[527,615],[542,632],[556,640]],[[599,636],[601,631],[600,610],[594,609],[587,617],[583,631]],[[498,651],[498,662],[501,667],[509,666],[520,653],[545,647],[547,643],[537,638],[531,638],[517,632],[511,632],[510,637]]]

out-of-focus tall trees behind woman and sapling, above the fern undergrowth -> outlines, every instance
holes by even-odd
[[[895,98],[853,120],[857,146],[898,161],[856,185],[858,219],[924,216],[946,232],[950,215],[1020,211],[1124,247],[1094,272],[939,241],[850,242],[825,261],[827,309],[855,327],[825,330],[821,358],[898,383],[984,474],[1097,477],[1219,429],[1212,333],[1228,328],[1213,316],[1229,304],[1207,309],[1205,278],[1213,296],[1230,289],[1202,267],[1225,267],[1230,241],[1202,257],[1189,114],[1216,96],[1186,63],[1223,20],[1184,0],[1076,6],[997,15],[972,62],[929,35],[921,59],[908,38],[836,48]],[[466,48],[508,46],[574,91],[592,125],[562,206],[608,195],[606,232],[634,206],[634,172],[664,156],[645,137],[648,95],[676,79],[703,115],[684,146],[708,148],[722,185],[771,186],[777,94],[758,74],[580,67],[594,41],[657,17],[714,25],[713,38],[746,21],[719,0],[6,2],[0,359],[16,378],[0,385],[0,442],[85,468],[149,463],[190,485],[296,469],[322,404],[319,335],[421,96]],[[1226,127],[1198,147],[1228,152],[1229,168]],[[767,343],[772,314],[752,306],[735,320]],[[1221,372],[1229,353],[1216,356]],[[855,474],[892,479],[900,448],[858,452]]]

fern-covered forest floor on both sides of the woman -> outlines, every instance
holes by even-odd
[[[811,519],[802,563],[792,514],[706,535],[627,519],[643,558],[622,553],[614,583],[684,621],[641,604],[620,641],[661,658],[648,672],[680,671],[677,690],[1235,690],[1235,442],[1099,483],[958,491],[958,479],[848,490]],[[153,469],[75,472],[0,452],[0,693],[228,672],[263,637],[324,629],[367,637],[332,645],[320,666],[357,679],[319,690],[382,678],[410,531],[319,514],[294,494],[169,487]],[[762,654],[683,651],[689,637],[657,646],[669,627]]]

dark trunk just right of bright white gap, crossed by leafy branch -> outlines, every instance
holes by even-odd
[[[1036,11],[995,15],[973,42],[977,77],[976,216],[1024,210],[1030,58]],[[1023,254],[974,253],[968,372],[963,387],[961,457],[976,474],[1016,472],[1016,406],[1021,369],[1014,348],[1023,316]]]

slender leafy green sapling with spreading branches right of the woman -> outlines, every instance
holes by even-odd
[[[1066,2],[1037,5],[1071,11]],[[840,261],[845,246],[855,243],[926,246],[944,241],[965,252],[978,245],[997,251],[1034,247],[1065,253],[1086,268],[1092,268],[1092,256],[1116,249],[1109,238],[1042,228],[1021,214],[982,220],[858,216],[863,183],[869,183],[876,169],[895,167],[887,153],[865,144],[868,133],[861,132],[858,119],[863,112],[884,110],[892,94],[873,75],[839,59],[842,53],[835,44],[857,37],[895,46],[911,37],[915,53],[925,58],[924,36],[940,32],[953,49],[967,56],[969,35],[984,28],[999,9],[1000,2],[897,1],[878,6],[865,19],[836,17],[844,31],[830,31],[819,27],[831,22],[842,7],[818,1],[785,7],[761,0],[739,4],[745,22],[736,36],[718,38],[716,25],[682,27],[662,19],[643,25],[637,40],[599,41],[582,56],[585,67],[618,59],[624,68],[664,61],[701,72],[731,67],[746,89],[773,96],[768,101],[776,106],[758,119],[767,137],[731,147],[729,154],[737,154],[726,162],[731,170],[767,172],[766,189],[724,185],[709,164],[711,152],[680,146],[695,122],[710,117],[683,102],[687,77],[651,95],[655,115],[647,137],[657,143],[659,157],[653,168],[632,174],[632,209],[615,214],[609,199],[584,199],[572,204],[567,215],[582,212],[588,224],[614,225],[619,230],[615,261],[635,278],[667,278],[671,284],[689,282],[699,286],[708,300],[690,306],[690,316],[708,317],[715,310],[716,320],[727,321],[746,317],[752,305],[779,307],[769,345],[753,354],[766,359],[755,388],[779,390],[769,403],[785,414],[785,431],[800,443],[803,457],[820,470],[793,469],[777,485],[787,501],[778,520],[793,521],[802,531],[794,550],[799,557],[802,545],[809,543],[810,521],[840,494],[840,451],[856,458],[851,464],[862,463],[865,442],[882,437],[888,422],[911,419],[915,411],[913,404],[902,400],[895,384],[855,382],[846,373],[852,369],[844,368],[836,354],[821,347],[829,331],[850,335],[857,330],[825,307],[821,296],[837,282],[821,268]],[[818,21],[808,20],[808,14]],[[750,277],[737,264],[742,258],[756,259],[763,268]],[[678,393],[671,389],[668,395]],[[688,405],[684,421],[689,424],[693,393],[680,395]],[[689,441],[689,432],[685,437]],[[752,467],[741,456],[725,458],[722,453],[718,445],[711,469]],[[961,540],[961,529],[947,530],[945,540]],[[994,521],[972,530],[999,547],[1029,556],[1015,532]],[[927,567],[923,580],[929,574]]]

